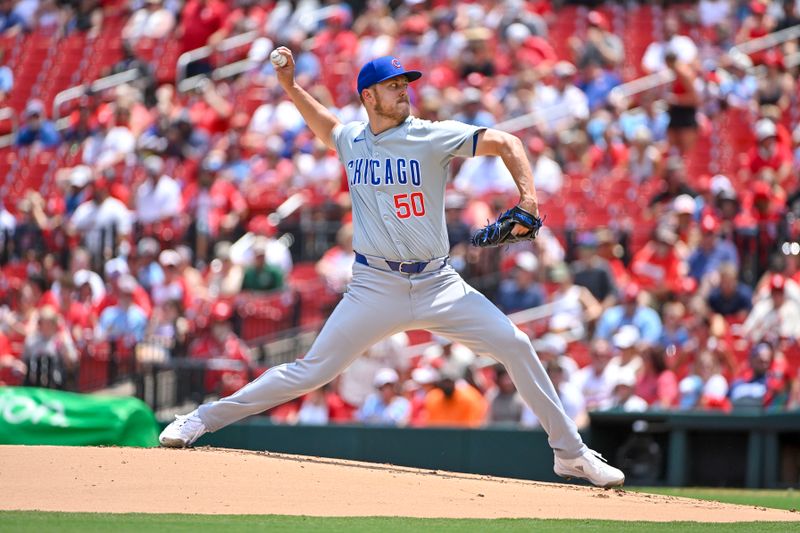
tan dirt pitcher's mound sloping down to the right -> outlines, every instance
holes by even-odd
[[[1,510],[798,520],[786,511],[262,452],[0,446]]]

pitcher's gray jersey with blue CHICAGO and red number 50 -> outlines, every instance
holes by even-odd
[[[374,135],[366,122],[333,130],[353,201],[353,248],[394,261],[426,261],[450,251],[444,219],[448,167],[475,155],[485,128],[409,116]]]

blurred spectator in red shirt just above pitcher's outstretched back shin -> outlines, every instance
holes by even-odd
[[[250,354],[233,332],[233,307],[218,301],[211,306],[209,327],[189,346],[189,357],[207,361],[204,393],[227,396],[249,380]]]

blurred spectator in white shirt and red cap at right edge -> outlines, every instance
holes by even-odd
[[[754,342],[782,337],[800,338],[800,305],[787,298],[784,292],[786,278],[772,274],[769,278],[769,296],[757,301],[742,324],[742,333]]]

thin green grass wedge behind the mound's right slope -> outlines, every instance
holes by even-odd
[[[748,490],[748,489],[716,489],[716,488],[672,488],[672,487],[636,487],[625,488],[628,491],[649,492],[652,494],[666,494],[668,496],[681,496],[696,498],[698,500],[712,500],[738,505],[751,505],[755,507],[772,507],[774,509],[795,509],[800,511],[800,491],[787,490]]]

